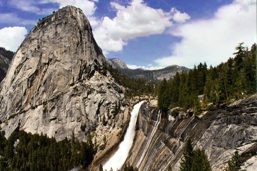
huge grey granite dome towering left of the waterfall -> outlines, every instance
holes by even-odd
[[[0,84],[0,120],[6,137],[20,126],[57,140],[80,140],[106,108],[123,98],[83,12],[67,6],[41,20],[15,53]],[[86,126],[85,131],[81,125]]]

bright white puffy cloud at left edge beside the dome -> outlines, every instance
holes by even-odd
[[[25,27],[5,27],[0,30],[0,46],[16,52],[18,46],[25,38]]]

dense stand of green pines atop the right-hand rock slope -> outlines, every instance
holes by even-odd
[[[176,73],[173,79],[163,80],[157,87],[158,107],[168,109],[196,107],[198,95],[205,95],[206,103],[219,104],[243,94],[256,93],[256,44],[250,49],[239,43],[235,58],[218,66],[200,63],[192,70]]]

